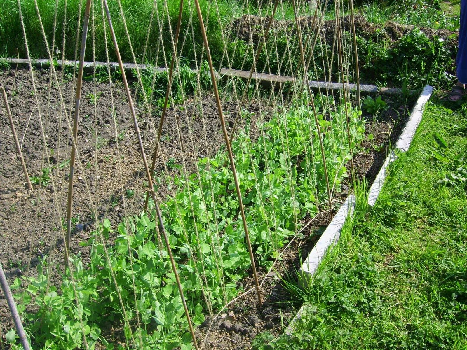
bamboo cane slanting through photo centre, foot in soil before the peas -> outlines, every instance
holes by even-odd
[[[206,49],[206,58],[209,64],[209,70],[211,72],[212,88],[214,90],[214,96],[216,98],[217,110],[219,112],[220,125],[222,127],[222,133],[226,141],[227,152],[229,154],[230,166],[232,168],[233,181],[235,182],[235,190],[238,196],[238,203],[240,207],[241,220],[243,222],[243,230],[245,231],[245,239],[247,240],[248,252],[250,253],[251,267],[253,269],[253,276],[255,278],[255,288],[258,294],[258,304],[262,306],[262,294],[261,287],[258,281],[258,273],[256,272],[255,256],[253,254],[253,247],[251,246],[250,235],[248,233],[247,218],[245,217],[245,210],[243,209],[243,202],[241,200],[240,183],[238,181],[237,171],[235,170],[235,162],[233,159],[232,147],[230,147],[229,135],[227,133],[226,121],[222,113],[222,105],[220,103],[219,90],[217,88],[216,76],[214,75],[214,66],[212,64],[211,51],[209,50],[209,44],[207,41],[206,28],[203,21],[203,15],[201,14],[201,8],[199,7],[199,1],[195,0],[196,12],[198,13],[199,25],[201,27],[201,35],[203,36],[203,42]]]

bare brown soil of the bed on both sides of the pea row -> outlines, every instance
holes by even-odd
[[[36,185],[33,190],[25,188],[21,165],[15,156],[6,112],[1,108],[0,263],[10,283],[21,275],[37,275],[38,259],[43,256],[49,257],[52,271],[55,272],[52,283],[60,282],[63,269],[64,243],[61,227],[62,217],[66,216],[69,167],[65,165],[60,168],[59,164],[65,157],[69,157],[70,133],[66,119],[60,115],[58,89],[52,88],[50,99],[48,98],[50,72],[37,70],[35,77],[37,105],[28,69],[0,71],[0,85],[5,86],[8,96],[11,96],[10,108],[14,119],[17,120],[16,132],[22,142],[29,174],[37,176],[41,173],[41,169],[51,167],[53,180],[47,186]],[[74,96],[71,94],[71,86],[71,82],[65,81],[63,91],[67,111],[73,108]],[[79,242],[87,239],[89,237],[87,232],[95,228],[92,208],[97,212],[99,219],[107,217],[115,225],[122,217],[139,212],[144,201],[142,191],[145,189],[145,173],[126,95],[118,82],[113,82],[112,88],[116,122],[112,117],[109,83],[97,84],[96,95],[99,99],[96,109],[91,103],[92,96],[89,95],[94,94],[93,83],[85,82],[83,85],[76,183],[73,186],[73,217],[76,220],[71,250],[81,252],[84,259],[88,254],[87,248],[81,247]],[[387,100],[387,102],[395,108],[399,107],[397,101]],[[186,107],[177,106],[176,110],[172,107],[167,114],[161,147],[164,161],[170,164],[170,175],[180,173],[180,170],[173,165],[182,163],[182,154],[187,164],[187,172],[191,173],[194,171],[198,157],[211,155],[224,143],[213,98],[203,97],[204,120],[201,120],[198,105],[199,103],[189,99]],[[41,119],[37,107],[41,111],[47,148],[43,147]],[[153,120],[150,120],[149,114],[141,105],[137,105],[136,109],[142,136],[145,139],[145,150],[149,157],[159,116],[153,111]],[[251,112],[257,111],[258,102],[254,101],[249,109]],[[224,111],[226,122],[231,127],[236,105],[227,102],[224,104]],[[265,112],[265,118],[268,118],[268,110]],[[184,153],[177,139],[176,114],[180,118],[184,145],[188,146]],[[406,110],[399,113],[389,109],[375,123],[367,124],[366,134],[373,134],[374,140],[365,140],[363,146],[367,151],[354,156],[354,164],[360,177],[374,178],[385,159],[389,140],[398,133],[406,115]],[[364,117],[372,119],[369,115]],[[251,124],[255,125],[255,120],[252,120]],[[193,144],[188,136],[188,126],[191,129]],[[25,135],[24,140],[23,135]],[[163,161],[157,161],[156,171],[162,178],[158,195],[163,199],[165,195],[170,194],[167,183],[164,182]],[[127,196],[127,189],[134,190],[134,195]],[[343,191],[333,200],[337,203],[342,202],[348,191],[348,187],[344,185]],[[205,339],[205,349],[248,349],[256,334],[264,330],[269,330],[273,334],[281,332],[283,324],[287,324],[287,320],[293,317],[295,312],[295,308],[286,302],[290,297],[282,287],[281,278],[296,278],[301,258],[304,259],[308,255],[330,219],[328,212],[318,214],[312,221],[310,218],[305,218],[303,223],[307,226],[302,232],[303,236],[291,242],[275,269],[269,274],[260,269],[261,280],[266,277],[262,285],[265,301],[263,307],[257,307],[256,294],[252,291],[223,310],[214,322],[207,319],[204,326],[196,330],[200,342]],[[253,286],[253,279],[250,276],[241,283],[243,289],[248,290]],[[3,295],[0,295],[0,333],[6,334],[11,327],[13,324],[6,301]]]

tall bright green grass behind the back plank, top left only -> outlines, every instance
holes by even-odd
[[[80,0],[67,0],[65,11],[65,0],[58,0],[57,6],[57,26],[55,30],[55,46],[61,49],[63,45],[64,19],[65,23],[65,58],[73,59],[75,52],[75,42],[78,28],[78,9]],[[53,36],[54,15],[56,11],[55,0],[38,0],[39,12],[42,17],[42,24],[48,37],[49,45]],[[149,26],[154,0],[121,0],[123,14],[127,21],[128,32],[133,45],[134,54],[137,61],[142,62],[143,48],[149,30],[149,43],[144,61],[151,63],[163,63],[163,52],[160,38],[162,37],[163,47],[167,56],[171,56],[172,45],[170,27],[172,33],[177,25],[179,0],[168,0],[167,9],[164,0],[156,0],[156,12],[152,25]],[[189,26],[190,19],[194,28],[199,28],[199,21],[196,11],[191,18],[191,11],[194,10],[194,1],[184,2],[184,12],[182,18],[182,30],[180,42],[184,42],[182,56],[194,59],[195,52],[201,52],[202,38],[199,30],[194,30],[194,38]],[[120,14],[117,0],[108,1],[112,14],[113,26],[120,43],[120,51],[125,62],[133,62],[130,46],[128,45],[125,27]],[[219,0],[216,3],[209,0],[200,0],[201,11],[206,21],[207,34],[214,58],[223,52],[223,42],[221,40],[221,28],[228,28],[233,14],[238,12],[241,15],[241,8],[234,0]],[[94,1],[94,22],[95,22],[95,56],[99,61],[106,61],[106,49],[104,39],[104,23],[100,1]],[[192,9],[190,11],[190,8]],[[21,0],[21,9],[24,18],[26,33],[28,35],[29,50],[34,58],[46,57],[45,44],[42,38],[40,22],[35,10],[34,0]],[[219,14],[218,14],[219,11]],[[84,1],[81,8],[81,18],[84,14]],[[7,57],[26,56],[24,38],[21,30],[21,22],[16,0],[0,0],[0,55]],[[207,20],[206,20],[207,19]],[[159,23],[161,27],[159,26]],[[160,30],[162,28],[162,32]],[[81,30],[81,28],[79,29]],[[108,36],[108,35],[107,35]],[[185,40],[186,39],[186,40]],[[112,49],[112,44],[108,38],[110,60],[115,61],[116,57]],[[92,42],[89,41],[89,48]],[[57,58],[57,52],[54,53]],[[92,60],[92,49],[86,51],[86,60]]]

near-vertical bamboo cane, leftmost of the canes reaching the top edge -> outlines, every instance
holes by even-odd
[[[91,13],[91,0],[86,0],[85,17],[83,21],[83,36],[81,38],[81,51],[79,53],[79,67],[78,67],[78,80],[76,84],[76,97],[75,97],[75,117],[73,120],[73,140],[71,145],[71,158],[70,158],[70,176],[68,179],[68,201],[66,207],[66,236],[65,236],[65,256],[68,259],[70,252],[71,240],[71,206],[73,203],[73,176],[75,174],[75,160],[76,160],[76,145],[78,144],[78,117],[79,117],[79,102],[81,100],[81,86],[83,84],[83,69],[85,62],[86,52],[86,39],[89,26],[89,17]]]

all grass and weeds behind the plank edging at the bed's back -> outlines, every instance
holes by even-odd
[[[57,1],[57,6],[56,6]],[[64,54],[66,59],[73,59],[75,53],[78,18],[83,17],[84,0],[37,0],[42,23],[48,38],[49,45],[53,37],[54,15],[57,10],[57,26],[55,29],[55,51],[62,49],[63,31],[65,32]],[[80,17],[78,9],[80,1],[83,2]],[[113,25],[119,41],[120,52],[124,62],[133,62],[133,54],[127,40],[127,34],[120,14],[119,0],[108,0],[113,18]],[[172,34],[177,23],[178,7],[180,0],[120,0],[122,12],[127,21],[130,41],[134,50],[136,61],[150,63],[156,66],[166,66],[172,56]],[[154,7],[156,1],[156,7]],[[314,14],[308,1],[298,1],[298,13],[302,16]],[[167,7],[164,5],[167,4]],[[357,15],[363,15],[369,22],[382,24],[387,21],[396,21],[401,24],[415,25],[417,28],[430,27],[434,29],[444,28],[455,30],[458,26],[458,16],[445,14],[435,0],[430,4],[425,0],[398,0],[398,1],[356,1]],[[98,61],[106,61],[106,43],[100,0],[93,4],[94,16],[94,46],[95,58]],[[261,41],[262,30],[258,25],[253,25],[251,32],[255,36],[254,44],[250,43],[248,35],[237,35],[237,31],[231,27],[231,22],[241,18],[244,14],[267,17],[271,13],[269,2],[264,0],[200,0],[201,12],[205,21],[209,46],[215,68],[227,67],[233,69],[249,70],[253,64],[255,47]],[[28,35],[28,43],[33,58],[47,57],[45,44],[42,38],[42,30],[35,10],[34,0],[21,0],[21,7]],[[152,24],[151,13],[156,8]],[[343,11],[348,14],[348,8],[344,5]],[[65,28],[64,19],[66,18]],[[269,35],[266,49],[263,49],[256,64],[256,70],[268,70],[273,74],[292,75],[299,61],[297,35],[291,31],[294,26],[293,8],[290,0],[280,1],[277,8],[277,21],[283,21],[282,26],[273,27],[274,35]],[[333,2],[328,2],[325,11],[325,20],[335,18]],[[92,24],[92,21],[91,21]],[[241,19],[235,25],[243,28],[248,26],[248,21]],[[302,39],[306,42],[312,32],[311,26],[302,29]],[[199,31],[199,21],[194,11],[194,0],[184,1],[182,28],[178,46],[178,55],[183,61],[193,67],[195,59],[198,65],[205,60],[202,57],[203,40]],[[170,32],[171,29],[171,32]],[[145,51],[146,38],[149,31],[149,42]],[[92,33],[92,28],[91,28]],[[80,33],[78,33],[80,34]],[[345,32],[345,42],[350,42],[350,34]],[[438,40],[435,37],[427,37],[415,29],[403,35],[398,40],[381,38],[366,32],[365,26],[357,29],[357,42],[359,47],[359,61],[361,80],[369,84],[386,86],[402,86],[417,88],[425,84],[443,86],[451,84],[454,72],[457,43],[450,38]],[[452,37],[456,36],[453,33]],[[78,35],[80,37],[80,35]],[[329,39],[329,37],[328,37]],[[449,39],[449,40],[448,40]],[[116,61],[113,44],[108,40],[109,60]],[[88,41],[85,59],[93,59],[92,36]],[[348,45],[347,45],[348,46]],[[322,50],[321,50],[322,49]],[[327,51],[332,56],[332,40],[318,40],[313,50],[314,57],[322,57]],[[345,49],[350,52],[350,47]],[[307,53],[308,55],[309,53]],[[0,57],[24,58],[26,50],[18,14],[17,0],[0,0]],[[54,52],[54,58],[61,58],[62,53]],[[228,59],[227,59],[228,57]],[[284,59],[285,58],[285,59]],[[321,63],[315,60],[309,67],[309,78],[324,80],[325,70],[331,68],[333,81],[340,81],[337,55],[333,61]],[[414,73],[416,72],[416,73]],[[350,79],[354,80],[353,70],[349,72]]]

